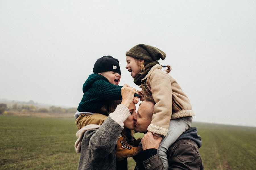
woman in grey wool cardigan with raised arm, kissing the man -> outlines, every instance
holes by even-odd
[[[123,100],[120,105],[117,105],[115,111],[109,114],[101,126],[88,125],[88,128],[85,128],[82,141],[80,141],[81,153],[78,169],[127,169],[127,162],[116,162],[115,145],[123,131],[124,122],[127,128],[135,128],[128,109],[133,101],[134,93],[137,93],[135,89],[125,84],[121,89]]]

